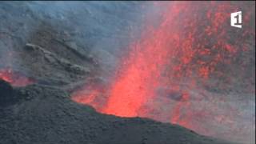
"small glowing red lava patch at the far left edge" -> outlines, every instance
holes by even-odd
[[[31,78],[26,78],[11,69],[0,70],[0,79],[9,82],[12,86],[27,86],[34,83]]]

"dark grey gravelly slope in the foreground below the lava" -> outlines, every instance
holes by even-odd
[[[146,118],[117,118],[98,114],[89,106],[70,101],[66,92],[46,86],[13,89],[1,81],[0,87],[1,98],[12,98],[14,91],[21,98],[19,102],[0,109],[5,113],[0,118],[0,143],[230,143]]]

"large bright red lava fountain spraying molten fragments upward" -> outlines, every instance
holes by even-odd
[[[227,119],[238,113],[225,104],[226,98],[210,97],[200,87],[225,90],[230,86],[214,80],[230,83],[230,66],[237,65],[238,54],[250,49],[239,36],[255,34],[250,28],[228,31],[230,12],[238,10],[230,2],[169,2],[166,7],[159,26],[147,26],[142,38],[130,46],[107,88],[105,103],[94,102],[101,95],[97,90],[76,93],[73,98],[104,114],[154,118],[213,134],[202,121],[218,119],[230,126],[232,121]],[[239,67],[235,70],[243,74]],[[173,89],[178,92],[170,93]],[[228,111],[225,116],[218,110],[220,103]]]

